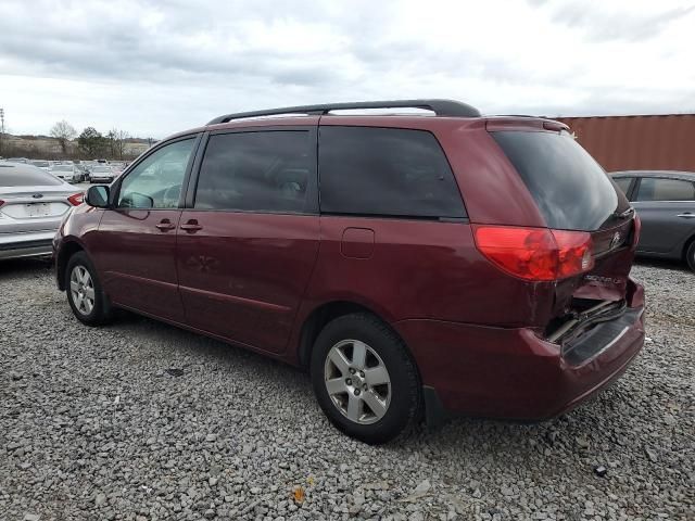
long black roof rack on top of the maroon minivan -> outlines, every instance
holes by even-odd
[[[466,103],[453,100],[393,100],[393,101],[358,101],[354,103],[327,103],[323,105],[286,106],[282,109],[269,109],[267,111],[239,112],[226,114],[211,120],[207,125],[243,119],[248,117],[275,116],[281,114],[307,114],[324,115],[331,111],[359,110],[359,109],[425,109],[432,111],[438,116],[451,117],[479,117],[478,109]]]

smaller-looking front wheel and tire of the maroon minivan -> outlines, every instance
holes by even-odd
[[[111,319],[111,303],[103,292],[94,265],[85,252],[77,252],[67,260],[65,292],[70,307],[80,322],[101,326]]]

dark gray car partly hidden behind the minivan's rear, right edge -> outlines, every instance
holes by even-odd
[[[695,173],[611,174],[642,220],[637,254],[684,260],[695,271]]]

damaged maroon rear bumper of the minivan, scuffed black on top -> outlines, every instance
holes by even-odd
[[[630,281],[623,313],[563,343],[527,328],[394,326],[420,369],[428,423],[452,412],[535,421],[576,407],[624,372],[644,344],[643,312],[643,289]]]

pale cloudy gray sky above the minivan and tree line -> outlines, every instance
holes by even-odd
[[[695,112],[695,0],[2,0],[15,134],[156,138],[233,111],[452,98],[486,114]]]

